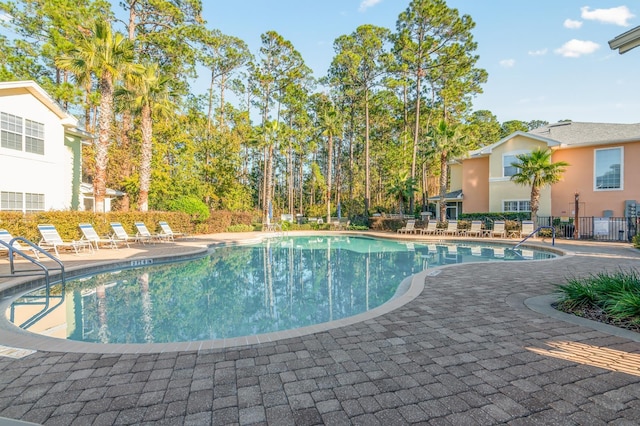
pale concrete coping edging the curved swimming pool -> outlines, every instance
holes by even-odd
[[[302,234],[296,234],[302,235]],[[313,233],[311,235],[318,235]],[[336,234],[327,234],[330,236],[336,236]],[[342,232],[339,235],[342,236],[362,236],[366,238],[383,238],[395,241],[407,241],[405,239],[398,239],[397,236],[380,236],[380,235],[367,235],[356,232]],[[175,255],[158,255],[158,256],[143,256],[135,259],[123,260],[108,260],[95,262],[89,265],[75,266],[69,268],[66,277],[76,278],[83,275],[91,275],[101,272],[108,272],[114,269],[135,268],[141,265],[150,264],[162,264],[185,261],[189,259],[196,259],[205,256],[212,249],[222,245],[242,245],[253,244],[263,241],[267,238],[273,238],[273,235],[261,235],[257,238],[225,241],[218,243],[211,243],[202,245],[200,247],[195,246],[194,250],[182,252]],[[411,240],[411,242],[421,242],[422,240]],[[434,240],[425,239],[433,243]],[[460,242],[481,242],[482,240],[466,240],[466,239],[442,239],[438,240],[441,243],[460,243]],[[509,245],[506,242],[500,241],[486,241],[492,245]],[[557,257],[544,260],[521,260],[519,262],[539,262],[539,261],[553,261],[558,260],[563,256],[571,255],[570,252],[559,249],[557,247],[541,247],[535,244],[523,244],[521,247],[543,249],[545,251],[553,252],[557,254]],[[142,263],[148,262],[148,263]],[[134,264],[135,263],[135,264]],[[476,263],[467,262],[465,264]],[[482,262],[477,262],[482,263]],[[334,321],[309,325],[305,327],[294,328],[291,330],[274,331],[263,334],[256,334],[251,336],[241,336],[233,338],[224,338],[216,340],[199,340],[191,342],[172,342],[172,343],[91,343],[91,342],[79,342],[74,340],[60,339],[50,337],[42,334],[33,333],[20,329],[9,321],[6,316],[6,311],[10,304],[21,294],[27,291],[38,288],[44,284],[43,279],[28,279],[25,277],[16,278],[5,282],[0,286],[0,341],[11,342],[11,345],[21,349],[31,349],[40,351],[54,351],[54,352],[72,352],[72,353],[100,353],[100,354],[143,354],[143,353],[163,353],[163,352],[182,352],[182,351],[202,351],[212,349],[225,349],[231,347],[240,347],[253,344],[260,344],[265,342],[274,342],[283,339],[295,338],[306,336],[309,334],[329,331],[335,328],[340,328],[367,320],[377,318],[381,315],[389,313],[399,307],[411,302],[422,293],[426,285],[425,281],[429,277],[436,277],[443,268],[455,267],[463,264],[450,264],[441,265],[434,268],[429,268],[418,272],[405,278],[399,285],[396,294],[384,304],[371,309],[366,312],[362,312],[347,318],[341,318]],[[13,283],[13,285],[11,285]],[[405,291],[403,291],[405,290]]]

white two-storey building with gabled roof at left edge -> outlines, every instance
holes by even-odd
[[[83,209],[90,136],[34,81],[0,82],[0,210]]]

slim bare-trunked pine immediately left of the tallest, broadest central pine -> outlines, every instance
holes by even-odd
[[[336,56],[329,68],[329,80],[339,89],[355,92],[364,107],[365,215],[369,214],[371,204],[369,109],[372,92],[381,84],[390,63],[386,49],[389,36],[386,28],[361,25],[352,34],[338,37],[334,42]]]

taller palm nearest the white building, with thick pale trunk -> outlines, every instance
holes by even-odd
[[[98,139],[96,148],[93,195],[95,210],[104,211],[106,194],[108,150],[111,143],[113,96],[115,81],[122,72],[133,67],[133,44],[121,33],[113,33],[111,25],[96,21],[90,31],[82,33],[77,46],[56,59],[56,64],[73,72],[78,79],[93,75],[98,81],[100,105],[98,107]]]

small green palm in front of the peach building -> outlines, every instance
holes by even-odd
[[[516,167],[518,171],[511,176],[511,180],[519,185],[531,186],[531,220],[537,227],[540,191],[559,182],[569,163],[552,163],[551,150],[540,148],[527,154],[516,155],[516,158],[518,161],[511,163],[511,166]]]

